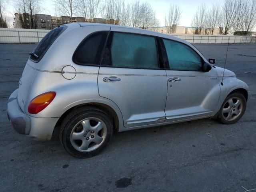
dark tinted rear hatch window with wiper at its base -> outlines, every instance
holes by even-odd
[[[40,61],[41,58],[44,56],[48,48],[52,45],[52,43],[56,40],[56,38],[66,29],[66,26],[58,26],[48,32],[44,38],[38,43],[36,48],[34,49],[33,53],[38,56],[30,56],[30,58],[36,62]]]

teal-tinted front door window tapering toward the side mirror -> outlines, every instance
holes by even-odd
[[[171,70],[202,70],[201,57],[189,46],[167,39],[164,39],[164,46]]]

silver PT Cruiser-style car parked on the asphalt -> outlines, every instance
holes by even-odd
[[[148,30],[62,25],[30,55],[8,118],[36,140],[59,132],[78,158],[98,154],[114,131],[209,117],[235,123],[250,96],[246,83],[189,42]]]

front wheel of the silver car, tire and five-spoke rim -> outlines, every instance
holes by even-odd
[[[234,124],[242,118],[245,110],[246,99],[244,95],[239,92],[234,92],[228,95],[224,100],[218,112],[218,120],[223,124]]]

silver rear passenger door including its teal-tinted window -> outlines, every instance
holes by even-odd
[[[165,120],[166,72],[152,32],[112,27],[98,75],[99,94],[120,108],[125,127]]]

